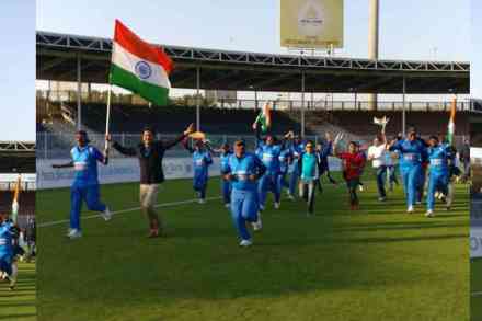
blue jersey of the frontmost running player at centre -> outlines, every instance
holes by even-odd
[[[260,158],[254,153],[246,152],[241,158],[231,154],[225,174],[231,173],[234,176],[234,180],[232,181],[232,188],[234,191],[255,192],[257,188],[257,182],[251,181],[249,176],[253,174],[261,176],[265,171],[266,167]]]

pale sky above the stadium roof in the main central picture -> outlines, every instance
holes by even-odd
[[[470,0],[380,0],[380,58],[468,60]],[[42,0],[37,30],[112,37],[120,19],[159,44],[287,53],[279,45],[279,0]],[[368,53],[368,0],[345,0],[345,48]]]

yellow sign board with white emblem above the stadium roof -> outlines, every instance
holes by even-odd
[[[284,47],[343,47],[343,0],[280,0]]]

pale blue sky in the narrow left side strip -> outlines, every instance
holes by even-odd
[[[35,0],[0,1],[0,140],[35,140]]]

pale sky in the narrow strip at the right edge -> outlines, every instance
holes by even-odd
[[[470,94],[482,99],[482,39],[475,35],[482,31],[482,1],[472,0],[472,49],[470,65]]]

